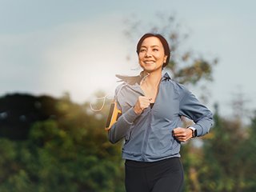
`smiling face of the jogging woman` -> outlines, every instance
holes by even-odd
[[[145,38],[138,52],[138,62],[147,72],[162,70],[162,65],[166,62],[162,42],[156,37]]]

